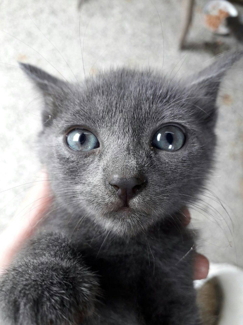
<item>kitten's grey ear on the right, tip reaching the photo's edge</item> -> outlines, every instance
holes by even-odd
[[[215,122],[220,82],[227,70],[242,57],[243,50],[226,52],[216,58],[213,64],[186,80],[186,93],[190,98],[188,101],[194,105],[193,110],[198,118],[205,119],[205,122]]]

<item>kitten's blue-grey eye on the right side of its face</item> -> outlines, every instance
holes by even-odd
[[[176,151],[185,143],[185,135],[174,125],[166,125],[158,130],[152,139],[152,146],[166,151]]]

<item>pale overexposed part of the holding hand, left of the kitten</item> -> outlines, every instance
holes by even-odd
[[[0,269],[9,264],[24,241],[33,233],[51,201],[47,174],[42,172],[18,213],[0,235]]]

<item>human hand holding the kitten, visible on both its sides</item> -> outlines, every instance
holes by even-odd
[[[26,200],[22,204],[22,208],[20,208],[9,226],[0,235],[0,270],[11,263],[21,245],[33,233],[52,200],[48,177],[45,172],[41,173],[36,184],[31,188]],[[190,220],[190,213],[185,208],[182,211],[181,219],[183,226],[188,226]],[[208,259],[202,254],[196,253],[194,279],[200,280],[206,278],[208,270]]]

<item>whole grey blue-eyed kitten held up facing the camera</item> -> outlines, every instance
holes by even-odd
[[[118,69],[76,85],[21,64],[44,97],[54,200],[1,277],[3,324],[200,324],[177,213],[212,167],[220,80],[241,56],[181,81]]]

